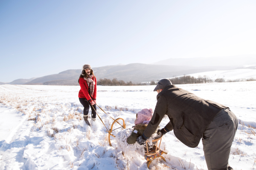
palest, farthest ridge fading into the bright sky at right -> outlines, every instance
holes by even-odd
[[[207,58],[169,58],[167,60],[157,61],[152,64],[170,65],[170,66],[233,66],[240,68],[247,65],[256,64],[256,55],[236,55],[229,57],[207,57]]]

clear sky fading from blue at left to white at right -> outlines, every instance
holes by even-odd
[[[256,0],[1,0],[0,82],[67,69],[256,54]]]

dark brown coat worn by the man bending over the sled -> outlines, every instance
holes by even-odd
[[[183,144],[196,147],[207,125],[225,108],[228,107],[199,98],[175,85],[169,85],[157,95],[157,105],[144,135],[150,137],[164,115],[168,115],[170,122],[166,128],[173,130]]]

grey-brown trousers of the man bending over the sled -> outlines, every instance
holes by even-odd
[[[222,109],[204,130],[204,157],[208,170],[227,170],[238,120],[230,109]]]

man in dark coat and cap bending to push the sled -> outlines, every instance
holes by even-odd
[[[238,127],[236,115],[222,104],[172,85],[168,79],[160,80],[154,91],[158,92],[157,105],[137,142],[143,144],[167,115],[170,122],[160,130],[162,134],[173,130],[175,136],[189,147],[198,146],[202,138],[208,170],[233,170],[228,165],[228,158]]]

